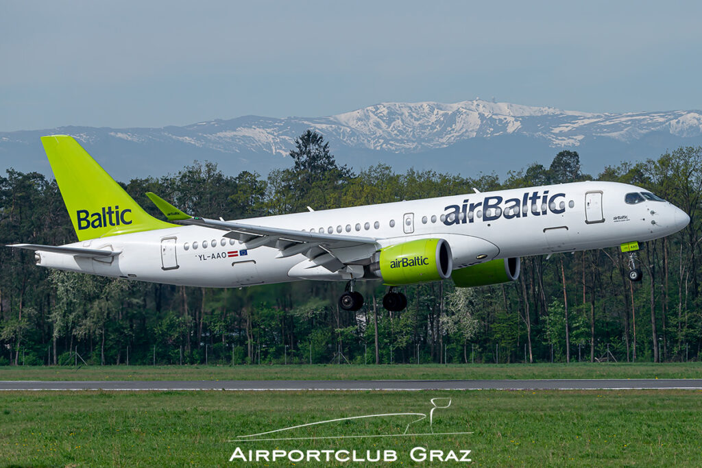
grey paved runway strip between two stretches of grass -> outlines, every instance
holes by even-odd
[[[696,389],[702,379],[583,380],[4,380],[0,390],[623,390]]]

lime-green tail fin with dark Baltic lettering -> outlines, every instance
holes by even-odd
[[[143,210],[72,137],[41,143],[79,241],[175,226]]]

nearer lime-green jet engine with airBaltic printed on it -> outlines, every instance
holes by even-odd
[[[451,276],[453,256],[444,239],[418,239],[380,250],[376,274],[388,286],[439,281]]]

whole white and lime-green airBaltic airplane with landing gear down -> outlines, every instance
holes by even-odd
[[[515,281],[521,258],[620,246],[640,281],[639,243],[680,231],[689,216],[634,185],[572,182],[352,208],[211,220],[156,194],[141,208],[68,135],[41,138],[78,241],[18,243],[40,267],[154,283],[234,288],[345,281],[341,309],[364,303],[357,281],[388,286],[383,307],[407,305],[399,286],[453,279],[466,288]]]

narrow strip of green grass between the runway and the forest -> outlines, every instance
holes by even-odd
[[[656,377],[702,378],[702,363],[0,367],[0,380],[453,380]]]

